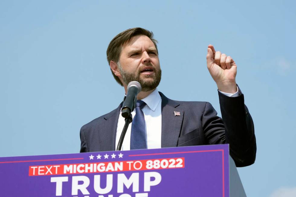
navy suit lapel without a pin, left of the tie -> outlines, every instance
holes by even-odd
[[[105,124],[101,132],[105,133],[105,137],[101,141],[101,149],[106,151],[115,151],[117,124],[121,106],[122,103],[115,110],[104,116]]]

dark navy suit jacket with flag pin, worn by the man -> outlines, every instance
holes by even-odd
[[[223,120],[208,102],[175,101],[159,92],[162,114],[161,147],[225,144],[237,167],[251,165],[256,157],[254,125],[244,97],[219,94]],[[80,152],[114,151],[117,109],[82,126]],[[180,112],[175,116],[174,111]]]

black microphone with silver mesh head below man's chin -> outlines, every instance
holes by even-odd
[[[137,103],[137,95],[142,90],[142,87],[138,81],[131,81],[127,85],[127,95],[124,99],[121,116],[127,118],[130,116],[130,113],[134,110]]]

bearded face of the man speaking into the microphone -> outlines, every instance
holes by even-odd
[[[122,81],[128,84],[130,81],[138,81],[142,91],[155,89],[161,79],[161,69],[158,54],[149,37],[139,35],[132,37],[121,51],[117,63]]]

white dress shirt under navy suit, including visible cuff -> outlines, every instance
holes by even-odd
[[[221,91],[220,91],[221,92]],[[225,93],[228,97],[238,97],[240,96],[240,92],[237,90],[236,93]],[[146,128],[146,140],[147,140],[147,148],[161,148],[161,97],[158,93],[157,88],[149,94],[146,98],[143,98],[142,101],[146,103],[146,105],[142,108],[145,118],[145,128]],[[131,112],[133,118],[136,115],[136,111]],[[125,120],[124,117],[119,113],[118,123],[117,123],[117,132],[116,132],[116,143],[115,150],[117,148],[117,144],[124,127]],[[125,134],[121,150],[128,151],[130,150],[130,130],[131,124],[127,128],[127,132]]]

